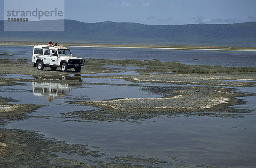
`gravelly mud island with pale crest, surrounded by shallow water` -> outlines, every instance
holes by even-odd
[[[151,88],[152,89],[152,88]],[[180,89],[180,90],[179,90]],[[79,105],[98,107],[97,110],[76,111],[63,114],[67,121],[123,121],[137,122],[155,117],[211,116],[243,117],[250,115],[250,110],[231,108],[232,105],[244,102],[236,97],[250,96],[235,92],[235,89],[220,87],[176,87],[176,90],[165,88],[171,96],[164,98],[125,98],[109,101],[72,102]]]

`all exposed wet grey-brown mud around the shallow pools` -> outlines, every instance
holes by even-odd
[[[62,73],[45,68],[33,68],[26,60],[0,59],[0,89],[5,86],[19,86],[23,82],[32,85],[45,82],[81,87],[83,85],[141,86],[141,90],[163,95],[160,98],[115,98],[91,101],[90,98],[75,97],[68,92],[65,96],[73,106],[94,106],[95,109],[62,113],[64,122],[131,122],[141,123],[163,116],[211,116],[239,118],[251,115],[250,109],[236,109],[231,106],[244,104],[239,97],[255,96],[253,93],[238,92],[236,87],[255,87],[253,74],[177,74],[148,69],[116,69],[111,67],[85,66],[80,73],[69,70]],[[135,75],[119,75],[120,71],[134,72]],[[97,74],[116,73],[102,76]],[[26,77],[12,78],[10,74]],[[93,75],[93,76],[90,76]],[[121,79],[123,84],[84,81],[83,78]],[[34,83],[33,83],[34,82]],[[129,83],[131,82],[131,83]],[[155,86],[147,85],[155,84]],[[161,86],[157,86],[160,84]],[[165,86],[164,84],[173,85]],[[34,85],[33,85],[34,86]],[[34,91],[35,92],[35,91]],[[57,94],[57,93],[56,93]],[[15,102],[15,103],[14,103]],[[18,104],[16,100],[0,97],[0,126],[8,122],[36,118],[29,113],[45,105]],[[39,117],[39,116],[38,116]],[[26,122],[26,121],[25,121]],[[47,139],[44,135],[20,129],[0,128],[1,167],[179,167],[183,160],[169,157],[169,162],[143,156],[111,156],[96,150],[96,146],[70,144],[65,141]],[[69,159],[64,156],[80,156],[84,159]],[[207,167],[207,166],[202,166]]]

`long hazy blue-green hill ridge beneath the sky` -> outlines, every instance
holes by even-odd
[[[42,23],[43,21],[38,21],[38,30]],[[4,21],[0,21],[0,41],[12,40],[256,47],[256,22],[212,25],[143,25],[128,22],[85,23],[65,20],[64,32],[4,32]]]

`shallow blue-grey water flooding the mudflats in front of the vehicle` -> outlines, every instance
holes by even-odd
[[[1,77],[30,78],[31,76],[7,74]],[[255,111],[242,118],[179,115],[173,118],[161,116],[161,118],[144,119],[137,123],[66,122],[70,118],[61,118],[63,113],[97,109],[93,106],[69,104],[70,101],[158,98],[164,95],[149,92],[145,87],[183,86],[128,82],[110,78],[86,78],[86,76],[72,74],[60,80],[72,80],[72,78],[79,78],[91,84],[58,84],[47,80],[47,82],[22,82],[23,85],[0,87],[2,97],[19,100],[13,104],[47,105],[29,114],[44,118],[13,121],[5,128],[38,131],[47,138],[65,140],[73,144],[88,144],[92,149],[96,147],[96,150],[108,154],[106,157],[98,158],[103,162],[113,162],[108,159],[110,157],[131,154],[169,162],[163,164],[163,167],[169,167],[170,163],[230,167],[250,167],[256,164]],[[236,88],[241,92],[255,92],[255,87]],[[247,104],[236,106],[236,108],[256,110],[255,97],[243,99]],[[59,157],[84,159],[78,155],[65,156],[61,153]]]

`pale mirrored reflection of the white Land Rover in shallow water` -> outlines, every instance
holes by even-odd
[[[34,95],[47,96],[49,101],[55,97],[70,94],[71,87],[68,84],[47,83],[47,82],[32,82]]]

